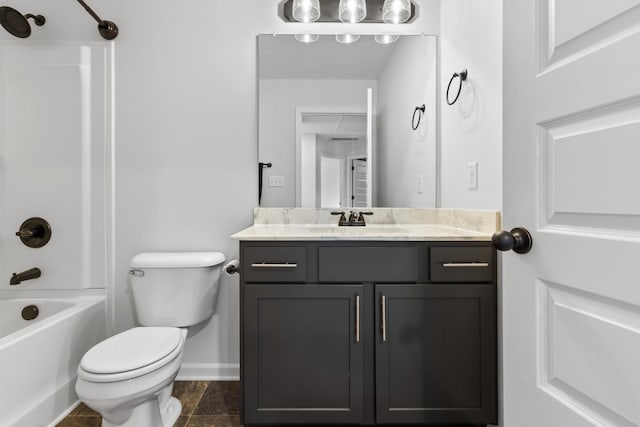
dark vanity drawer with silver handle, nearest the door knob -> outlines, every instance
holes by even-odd
[[[490,247],[432,247],[430,281],[493,282],[494,250]]]

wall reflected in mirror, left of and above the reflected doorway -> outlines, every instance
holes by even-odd
[[[296,206],[296,108],[305,111],[351,112],[367,109],[367,88],[375,80],[261,79],[260,161],[264,171],[262,206]],[[284,187],[269,187],[269,175],[284,176]]]

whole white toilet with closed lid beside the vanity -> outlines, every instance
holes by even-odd
[[[173,426],[182,404],[171,396],[187,328],[213,315],[224,255],[145,252],[129,276],[139,327],[96,344],[78,366],[76,392],[102,426]]]

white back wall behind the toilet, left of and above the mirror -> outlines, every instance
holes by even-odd
[[[392,28],[437,34],[439,1],[417,0],[420,17]],[[94,0],[114,21],[115,64],[114,282],[110,332],[134,325],[127,278],[140,251],[219,250],[252,222],[257,204],[256,35],[308,31],[276,16],[277,0]],[[15,5],[42,13],[33,39],[100,41],[76,2]],[[310,24],[314,32],[376,33],[383,24]],[[0,29],[0,40],[11,36]],[[13,39],[12,39],[13,40]],[[28,41],[25,41],[28,43]],[[106,43],[106,42],[105,42]],[[193,375],[237,375],[238,279],[225,276],[216,314],[192,331],[184,363]]]

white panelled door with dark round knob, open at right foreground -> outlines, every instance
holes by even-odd
[[[504,1],[504,425],[640,425],[640,1]]]

